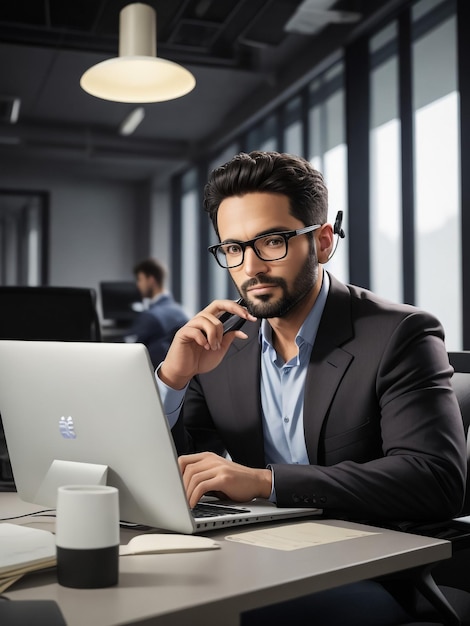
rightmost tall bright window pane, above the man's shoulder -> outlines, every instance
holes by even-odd
[[[416,304],[444,325],[448,350],[462,347],[459,97],[456,18],[440,5],[413,9]]]

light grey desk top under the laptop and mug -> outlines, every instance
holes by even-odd
[[[16,494],[0,493],[0,518],[38,509]],[[48,518],[23,518],[19,523],[53,530]],[[58,585],[55,572],[49,571],[29,574],[5,595],[56,600],[68,626],[235,626],[240,613],[249,609],[451,556],[447,541],[343,521],[321,523],[374,534],[285,552],[226,541],[229,533],[260,526],[232,528],[210,535],[220,541],[220,550],[121,557],[116,587],[69,589]],[[121,543],[135,534],[122,531]]]

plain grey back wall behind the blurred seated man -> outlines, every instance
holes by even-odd
[[[151,181],[74,176],[73,167],[44,169],[39,163],[2,163],[0,188],[49,192],[50,285],[98,290],[100,280],[132,280],[134,263],[150,253],[168,264],[169,202],[151,191]]]

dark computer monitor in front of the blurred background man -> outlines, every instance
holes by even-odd
[[[133,281],[102,281],[100,295],[103,319],[117,326],[130,325],[142,310],[142,296]]]

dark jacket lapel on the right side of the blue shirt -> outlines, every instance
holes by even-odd
[[[323,422],[353,356],[340,346],[353,335],[350,294],[330,275],[330,291],[307,371],[304,432],[310,463],[318,463]]]

